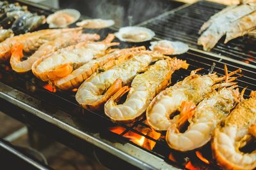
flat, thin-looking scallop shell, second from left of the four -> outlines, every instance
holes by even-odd
[[[106,27],[111,27],[115,24],[113,20],[102,20],[102,19],[88,19],[77,22],[78,27],[84,27],[88,29],[102,29]]]

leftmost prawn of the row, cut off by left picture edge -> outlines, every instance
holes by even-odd
[[[60,37],[61,34],[65,32],[77,32],[79,30],[81,30],[79,27],[70,29],[44,29],[7,38],[0,43],[0,61],[7,60],[11,57],[11,48],[17,43],[24,46],[23,50],[25,52],[32,52],[37,50],[44,43]]]

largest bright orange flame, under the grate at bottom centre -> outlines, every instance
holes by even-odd
[[[135,128],[136,131],[140,131],[141,133],[145,134],[145,136],[150,136],[153,139],[159,139],[161,134],[149,129],[147,127],[136,127]],[[114,132],[116,134],[122,134],[122,132],[125,131],[124,127],[111,127],[109,128],[109,131]],[[150,139],[145,138],[145,136],[141,136],[140,134],[136,133],[136,132],[132,132],[132,131],[128,131],[124,134],[125,138],[130,139],[130,141],[132,141],[133,143],[135,143],[136,145],[139,145],[143,148],[146,148],[148,150],[152,150],[154,148],[154,146],[156,145],[155,141],[152,141]]]

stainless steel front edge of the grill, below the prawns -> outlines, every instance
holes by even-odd
[[[112,153],[116,157],[119,157],[120,159],[125,160],[136,167],[140,167],[141,169],[177,169],[176,167],[164,162],[163,159],[141,150],[130,143],[112,143],[101,138],[99,134],[92,134],[90,132],[82,131],[79,129],[79,127],[75,126],[76,124],[72,122],[72,120],[68,120],[67,123],[67,118],[61,117],[61,115],[67,115],[67,113],[58,110],[58,113],[52,116],[51,114],[47,113],[44,108],[40,107],[42,104],[41,101],[1,82],[0,97],[14,104],[15,106],[19,106],[23,110],[32,113],[36,117],[42,118],[43,120],[46,120],[47,122],[54,124],[61,129],[70,132],[71,134],[74,134],[75,136],[84,139],[88,143],[92,143],[102,150],[106,150],[106,152]]]

